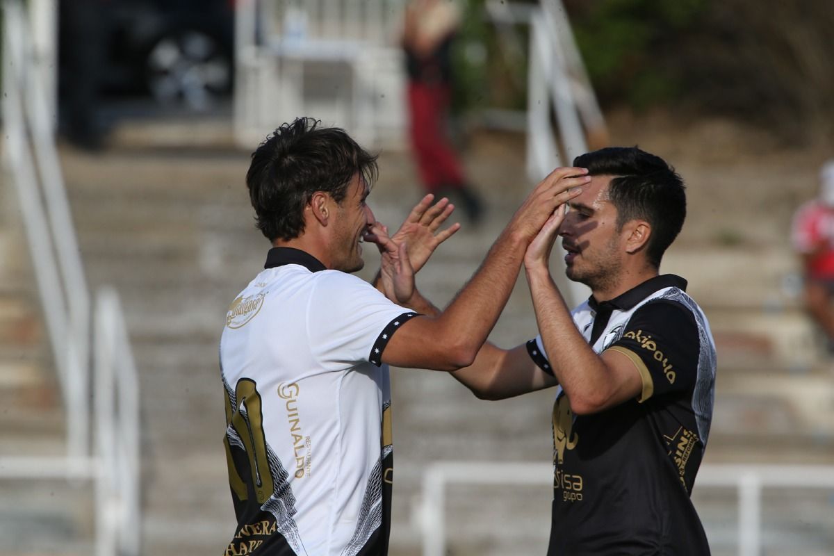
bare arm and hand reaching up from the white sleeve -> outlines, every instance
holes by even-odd
[[[398,367],[455,370],[470,366],[510,297],[525,251],[559,205],[590,181],[584,168],[557,168],[542,180],[495,240],[470,283],[437,316],[412,318],[385,348]],[[572,190],[570,188],[573,188]]]

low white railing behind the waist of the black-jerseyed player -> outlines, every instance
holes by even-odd
[[[446,553],[445,502],[446,491],[451,484],[528,484],[551,489],[553,464],[450,461],[430,465],[423,473],[417,520],[422,528],[423,556],[444,556]],[[761,491],[784,487],[834,490],[834,466],[705,464],[696,478],[699,492],[708,488],[736,488],[739,556],[762,554]],[[542,511],[547,511],[547,508],[542,508]]]

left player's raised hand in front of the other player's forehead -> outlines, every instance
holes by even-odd
[[[521,203],[507,230],[520,234],[527,243],[533,241],[556,207],[582,193],[582,186],[590,182],[587,174],[587,168],[556,168]]]

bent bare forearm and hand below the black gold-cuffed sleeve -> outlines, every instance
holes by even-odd
[[[638,397],[641,376],[623,353],[597,355],[575,327],[548,268],[557,228],[551,218],[530,243],[525,255],[527,282],[545,351],[570,409],[579,415],[596,413]]]

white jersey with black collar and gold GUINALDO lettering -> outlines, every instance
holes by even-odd
[[[307,253],[269,251],[220,340],[238,518],[227,554],[387,552],[392,447],[381,355],[415,315]]]

